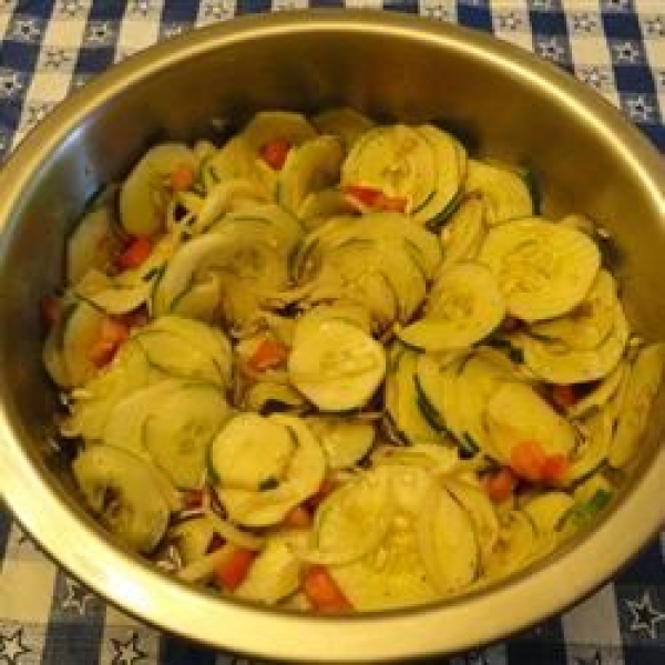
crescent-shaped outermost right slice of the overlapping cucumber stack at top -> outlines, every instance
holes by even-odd
[[[434,125],[420,125],[417,131],[433,151],[436,176],[429,201],[412,214],[422,224],[439,226],[460,191],[467,171],[467,151],[451,134]]]

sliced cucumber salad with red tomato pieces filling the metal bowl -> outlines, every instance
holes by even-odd
[[[42,304],[81,500],[181,580],[282,607],[522,570],[612,503],[661,383],[608,243],[434,124],[264,111],[155,145]]]

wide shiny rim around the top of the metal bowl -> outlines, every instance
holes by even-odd
[[[477,60],[491,59],[530,84],[546,86],[632,163],[665,224],[665,178],[657,152],[608,102],[550,63],[493,37],[419,17],[376,10],[308,10],[242,17],[193,30],[101,74],[60,104],[8,160],[0,175],[0,187],[8,193],[0,201],[0,225],[17,222],[12,213],[29,196],[45,157],[101,102],[212,49],[284,31],[313,30],[380,33],[452,49]],[[0,236],[0,257],[7,235]],[[411,610],[335,617],[277,613],[195,591],[110,545],[99,525],[81,509],[72,511],[60,489],[43,481],[43,467],[22,447],[28,433],[13,412],[11,396],[2,390],[0,494],[45,552],[94,592],[149,624],[207,646],[259,657],[376,663],[452,654],[505,638],[597,589],[636,554],[665,519],[665,507],[653,500],[665,478],[661,446],[651,463],[643,464],[643,477],[613,509],[611,519],[600,522],[592,538],[566,548],[554,564],[539,564],[536,575],[519,574],[489,595],[472,594]],[[631,536],[617,538],[622,533]],[[84,542],[85,548],[68,545],[76,542]]]

